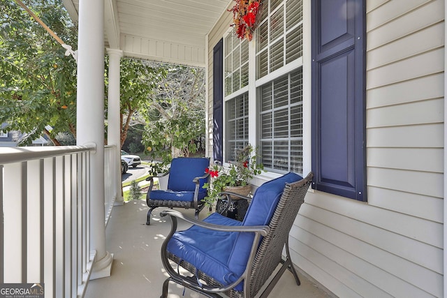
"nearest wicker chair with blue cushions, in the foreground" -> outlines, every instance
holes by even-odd
[[[288,248],[288,233],[304,202],[313,174],[305,179],[288,173],[260,186],[251,200],[244,221],[214,213],[203,221],[166,210],[171,231],[161,246],[161,260],[169,277],[161,298],[168,295],[170,281],[184,285],[206,297],[254,297],[282,264],[259,297],[268,297],[281,275],[289,269],[300,285]],[[177,218],[192,223],[176,232]],[[261,243],[260,243],[261,242]],[[282,258],[285,246],[286,259]],[[192,275],[179,274],[172,263]]]

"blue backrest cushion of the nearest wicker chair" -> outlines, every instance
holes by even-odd
[[[301,179],[300,175],[289,172],[259,186],[254,193],[242,225],[268,225],[273,217],[274,210],[277,208],[286,183],[292,183]],[[231,271],[236,274],[244,272],[249,260],[253,240],[253,233],[241,233],[237,236],[228,262],[228,268]]]

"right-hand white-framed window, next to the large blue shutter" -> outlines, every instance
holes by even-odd
[[[272,172],[302,174],[302,0],[264,6],[256,79],[262,163]]]

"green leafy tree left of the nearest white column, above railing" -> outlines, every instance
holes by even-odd
[[[61,1],[25,4],[66,44],[77,47],[77,28]],[[42,132],[55,144],[59,132],[75,135],[75,60],[15,1],[1,1],[0,24],[0,123],[28,133],[27,142]]]

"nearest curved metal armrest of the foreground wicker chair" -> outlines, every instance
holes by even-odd
[[[186,221],[187,223],[191,223],[193,225],[198,225],[199,227],[202,228],[207,228],[210,230],[215,230],[215,231],[223,231],[223,232],[256,232],[261,234],[261,236],[267,236],[268,232],[270,232],[270,228],[268,227],[268,225],[214,225],[214,223],[205,223],[203,221],[198,221],[195,218],[190,218],[188,216],[184,216],[184,214],[182,214],[179,211],[176,210],[165,210],[165,211],[161,211],[160,216],[171,216],[171,218],[175,217],[175,218],[179,218],[182,219],[183,221]]]

